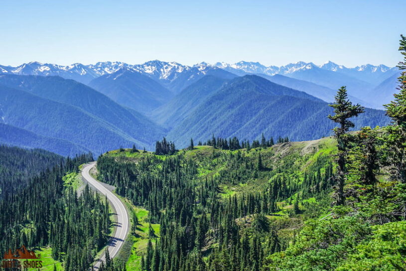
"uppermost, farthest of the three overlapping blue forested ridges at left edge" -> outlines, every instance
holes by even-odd
[[[104,122],[116,131],[133,137],[143,144],[160,138],[163,130],[141,114],[129,112],[100,92],[73,80],[58,76],[0,75],[0,85],[18,88],[39,97],[78,107]],[[156,137],[151,139],[151,135]]]

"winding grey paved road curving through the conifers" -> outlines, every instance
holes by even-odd
[[[95,187],[101,194],[107,196],[107,199],[111,202],[112,207],[116,211],[117,214],[116,231],[114,236],[109,240],[108,243],[110,257],[114,258],[115,256],[117,256],[128,235],[129,216],[126,207],[124,207],[124,204],[120,201],[120,199],[90,175],[89,171],[95,165],[96,162],[86,164],[82,169],[82,176],[89,184]],[[98,270],[102,262],[104,262],[105,260],[106,255],[105,253],[103,253],[103,255],[96,260],[94,269]]]

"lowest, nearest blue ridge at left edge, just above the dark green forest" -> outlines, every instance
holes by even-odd
[[[0,123],[0,143],[25,148],[42,148],[64,156],[75,156],[89,151],[68,140],[37,135],[4,123]]]

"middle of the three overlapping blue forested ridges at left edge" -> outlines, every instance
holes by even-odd
[[[86,146],[96,154],[133,143],[149,147],[148,141],[135,139],[114,125],[78,107],[0,86],[1,119],[5,124],[41,136],[55,137]]]

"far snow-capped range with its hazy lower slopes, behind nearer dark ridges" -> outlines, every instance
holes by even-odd
[[[17,67],[0,65],[0,74],[56,75],[65,79],[73,79],[84,84],[90,84],[96,89],[98,88],[100,81],[104,81],[104,79],[108,78],[115,78],[116,76],[113,74],[116,74],[117,72],[123,73],[124,70],[131,70],[145,77],[149,77],[173,94],[179,93],[185,87],[196,82],[205,75],[214,75],[227,79],[247,74],[257,74],[264,77],[283,75],[288,78],[306,81],[304,85],[307,83],[313,83],[314,85],[317,85],[314,86],[316,88],[329,88],[334,90],[334,92],[342,85],[346,85],[349,94],[353,98],[364,103],[368,107],[377,109],[383,109],[382,105],[389,103],[392,97],[378,100],[375,95],[381,94],[382,92],[393,94],[396,89],[388,84],[380,86],[379,90],[376,90],[376,88],[386,79],[399,74],[397,67],[366,64],[354,68],[347,68],[331,61],[322,65],[299,61],[280,67],[265,66],[259,62],[247,61],[240,61],[234,64],[217,62],[214,65],[202,62],[193,66],[187,66],[177,62],[164,62],[159,60],[148,61],[136,65],[124,62],[98,62],[91,65],[75,63],[68,66],[41,64],[39,62],[25,63]],[[95,80],[99,77],[104,79]],[[298,86],[297,81],[295,84],[299,90],[307,91],[308,89],[306,87],[301,88],[301,85]],[[118,88],[119,90],[122,89],[122,87],[117,87],[115,85],[112,87]],[[326,93],[320,95],[319,98],[326,102],[330,102],[334,94],[331,94],[331,91],[326,91]],[[113,97],[111,98],[115,100]],[[167,97],[164,99],[167,99]],[[152,107],[155,107],[156,105],[159,105],[159,103],[153,104]],[[145,110],[148,111],[149,108],[146,108]]]

